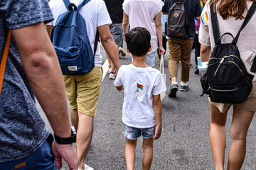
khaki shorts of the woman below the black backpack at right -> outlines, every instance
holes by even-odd
[[[216,106],[221,113],[225,113],[227,108],[231,105],[228,103],[215,103],[211,102],[208,97],[209,103]],[[239,104],[233,104],[234,107],[239,108],[242,111],[256,111],[256,81],[252,81],[252,91],[245,102]]]

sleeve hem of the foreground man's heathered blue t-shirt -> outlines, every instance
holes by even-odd
[[[51,14],[48,14],[48,15],[43,16],[43,17],[34,16],[33,18],[29,18],[26,21],[11,23],[7,27],[9,29],[17,29],[17,28],[23,28],[23,27],[26,27],[26,26],[31,26],[33,24],[41,23],[41,22],[49,23],[50,21],[53,21],[53,20],[54,20],[54,18]]]

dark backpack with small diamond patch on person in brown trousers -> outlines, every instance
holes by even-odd
[[[173,1],[168,12],[168,21],[166,26],[166,35],[170,38],[188,38],[188,16],[185,11],[184,4],[186,1]]]

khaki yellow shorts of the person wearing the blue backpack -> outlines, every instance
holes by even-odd
[[[82,76],[63,75],[71,109],[78,110],[79,113],[85,115],[96,115],[102,73],[102,67],[94,67]]]

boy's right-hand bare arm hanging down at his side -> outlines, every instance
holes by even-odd
[[[153,140],[157,140],[161,136],[161,98],[159,95],[153,95],[153,107],[154,107],[154,113],[156,117],[156,131],[155,136],[153,137]]]

